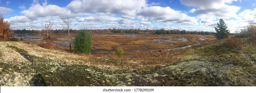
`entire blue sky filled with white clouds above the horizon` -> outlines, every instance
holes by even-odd
[[[211,31],[220,18],[231,32],[256,24],[256,0],[0,0],[11,29],[179,29]]]

